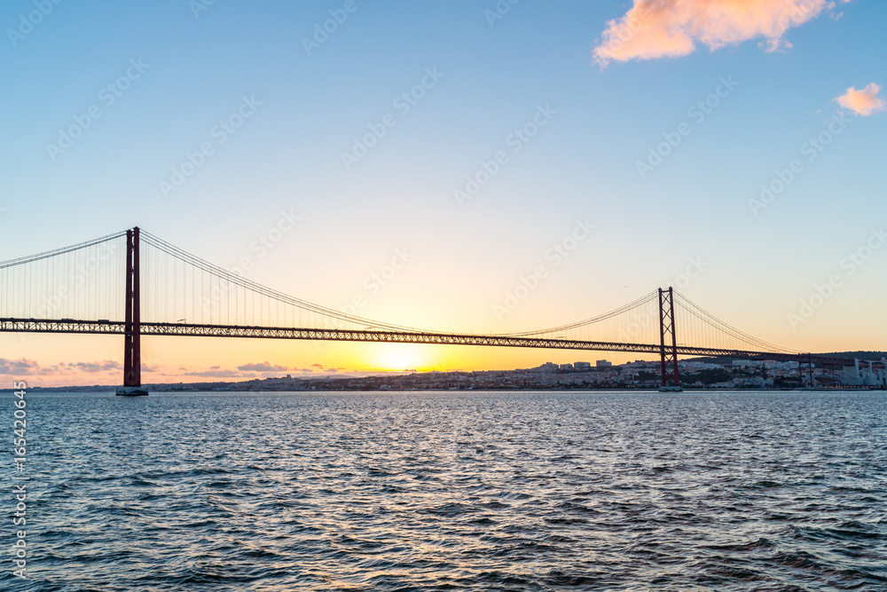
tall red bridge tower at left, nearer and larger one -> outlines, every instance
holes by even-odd
[[[142,388],[141,306],[138,282],[138,226],[126,231],[126,320],[123,335],[123,386],[121,396],[146,395]]]

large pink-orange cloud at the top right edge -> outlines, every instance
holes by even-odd
[[[611,60],[678,58],[703,43],[710,51],[764,37],[765,51],[791,47],[789,28],[850,0],[634,0],[623,17],[610,20],[594,48],[600,67]]]

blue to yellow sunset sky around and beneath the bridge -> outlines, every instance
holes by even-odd
[[[674,285],[791,349],[887,349],[883,2],[10,0],[0,25],[0,261],[137,225],[401,325],[551,327]],[[638,357],[145,337],[143,381]],[[0,335],[0,379],[121,360]]]

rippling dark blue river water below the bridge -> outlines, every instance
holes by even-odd
[[[7,552],[0,589],[887,590],[883,392],[27,410],[31,580]]]

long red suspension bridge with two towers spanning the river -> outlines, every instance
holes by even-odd
[[[679,322],[678,322],[679,321]],[[523,333],[445,333],[369,320],[289,296],[132,228],[0,263],[0,331],[123,335],[123,388],[141,389],[142,335],[434,343],[633,351],[660,359],[663,390],[679,390],[679,356],[797,361],[853,359],[792,351],[735,329],[672,288],[614,311]]]

